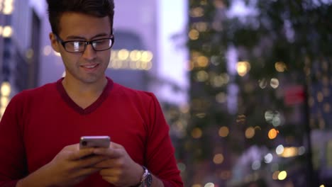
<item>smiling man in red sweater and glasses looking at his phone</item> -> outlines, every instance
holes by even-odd
[[[113,0],[48,0],[48,13],[66,75],[17,94],[6,108],[0,186],[183,186],[155,96],[104,74]],[[79,149],[85,135],[110,136],[111,145]]]

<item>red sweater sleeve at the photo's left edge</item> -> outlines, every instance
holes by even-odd
[[[26,157],[19,121],[22,102],[14,96],[0,122],[0,186],[16,186],[26,171]]]

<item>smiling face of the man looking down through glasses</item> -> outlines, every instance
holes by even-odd
[[[97,40],[110,38],[111,26],[109,17],[97,18],[82,13],[64,13],[60,18],[60,32],[58,36],[63,41],[68,40]],[[50,34],[52,47],[60,52],[67,81],[80,81],[91,84],[104,80],[104,73],[109,65],[111,50],[94,51],[92,45],[80,53],[70,53],[65,50],[54,34]]]

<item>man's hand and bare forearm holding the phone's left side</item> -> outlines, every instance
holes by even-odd
[[[94,165],[106,157],[91,156],[93,153],[94,148],[80,150],[78,144],[67,146],[51,162],[18,181],[17,186],[73,186],[100,170]]]

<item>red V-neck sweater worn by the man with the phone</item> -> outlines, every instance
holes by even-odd
[[[169,127],[153,94],[108,78],[101,96],[82,109],[66,94],[61,81],[22,91],[11,99],[0,123],[0,186],[15,186],[84,135],[109,135],[165,186],[183,186]],[[111,185],[93,174],[77,186]]]

